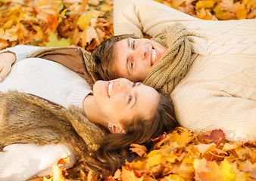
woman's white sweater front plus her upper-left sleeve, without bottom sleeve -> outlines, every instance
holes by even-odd
[[[39,47],[18,45],[8,48],[17,56],[10,74],[0,83],[0,91],[18,90],[68,108],[83,108],[84,98],[92,92],[89,84],[65,66],[50,60],[27,58]]]

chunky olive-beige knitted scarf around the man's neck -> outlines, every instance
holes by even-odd
[[[186,28],[181,23],[174,23],[152,40],[164,44],[168,49],[159,63],[149,72],[143,84],[170,95],[188,72],[196,55],[192,54]]]

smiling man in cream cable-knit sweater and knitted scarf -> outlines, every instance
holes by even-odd
[[[102,78],[169,94],[189,130],[256,139],[256,20],[200,20],[151,0],[114,0],[114,34],[94,53]]]

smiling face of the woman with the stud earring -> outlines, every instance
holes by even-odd
[[[154,88],[126,78],[96,81],[93,95],[98,112],[114,124],[137,116],[146,120],[153,118],[160,99]]]

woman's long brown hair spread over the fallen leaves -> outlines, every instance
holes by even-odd
[[[150,151],[154,146],[152,139],[178,126],[170,98],[160,95],[155,118],[149,121],[142,118],[123,121],[126,134],[109,133],[97,152],[83,154],[86,167],[104,176],[113,175],[125,161],[132,161],[138,156],[130,151],[131,143],[144,145]]]

